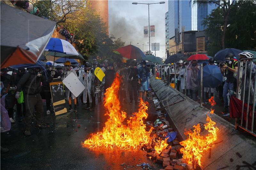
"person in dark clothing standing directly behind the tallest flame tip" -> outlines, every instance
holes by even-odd
[[[126,98],[126,90],[128,85],[128,72],[127,72],[127,68],[122,66],[121,59],[116,60],[115,71],[118,73],[118,75],[122,79],[121,81],[122,83],[120,83],[120,87],[119,87],[119,101],[121,104],[124,104],[126,103],[125,98]]]

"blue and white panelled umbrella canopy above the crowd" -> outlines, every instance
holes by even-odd
[[[69,55],[79,55],[75,47],[73,47],[68,41],[61,40],[59,38],[51,38],[44,50]]]

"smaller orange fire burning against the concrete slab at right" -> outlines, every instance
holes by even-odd
[[[183,153],[183,159],[190,165],[194,165],[196,168],[196,164],[200,167],[202,154],[204,151],[207,151],[210,148],[214,147],[213,142],[217,140],[217,131],[219,128],[215,126],[215,122],[211,120],[211,118],[207,115],[206,118],[207,123],[204,124],[204,129],[206,129],[209,134],[206,136],[201,136],[201,128],[200,125],[194,125],[195,128],[193,132],[191,130],[186,131],[184,134],[188,135],[188,139],[180,142],[184,148],[180,149],[180,152]]]

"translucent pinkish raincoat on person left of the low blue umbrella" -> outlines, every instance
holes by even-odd
[[[189,63],[187,67],[187,89],[197,90],[199,87],[198,77],[198,69],[199,66],[193,66],[192,63]]]

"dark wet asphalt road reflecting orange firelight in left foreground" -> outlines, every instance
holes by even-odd
[[[133,103],[123,108],[130,114],[137,106]],[[143,162],[154,169],[161,168],[146,157],[145,151],[89,151],[81,146],[91,133],[102,130],[107,120],[102,105],[90,112],[79,104],[76,114],[69,112],[58,116],[46,115],[45,110],[44,105],[46,129],[36,129],[32,123],[31,136],[25,137],[23,122],[14,117],[16,122],[11,130],[1,133],[1,146],[10,150],[1,153],[1,169],[142,169],[136,165]]]

